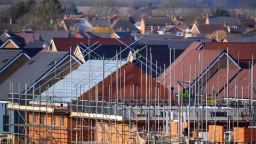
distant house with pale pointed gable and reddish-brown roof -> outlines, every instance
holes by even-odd
[[[220,24],[194,24],[191,28],[191,34],[192,36],[206,36],[218,30],[224,30],[228,34],[228,29]]]

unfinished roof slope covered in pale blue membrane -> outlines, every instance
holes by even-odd
[[[91,63],[91,65],[90,65]],[[106,78],[113,71],[116,70],[116,66],[119,68],[123,66],[127,61],[118,61],[118,65],[116,64],[116,60],[105,60],[104,61],[104,71]],[[91,69],[91,73],[90,73]],[[89,60],[79,66],[77,69],[72,71],[71,74],[68,74],[59,82],[55,83],[53,86],[49,88],[49,91],[44,91],[41,94],[41,99],[46,99],[46,95],[53,95],[52,89],[54,87],[54,100],[58,102],[70,102],[70,97],[76,99],[80,94],[90,90],[90,87],[93,87],[95,84],[98,84],[103,79],[103,60]],[[70,92],[70,75],[72,75],[72,83],[71,83],[71,92]],[[90,82],[89,83],[89,79]],[[77,94],[77,90],[80,94]],[[46,94],[47,93],[47,94]],[[70,94],[71,93],[71,94]],[[39,99],[39,98],[36,98]],[[52,99],[49,97],[48,100]]]

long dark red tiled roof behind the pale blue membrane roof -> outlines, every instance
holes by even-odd
[[[125,44],[132,44],[131,38],[120,38]],[[90,45],[98,42],[97,44],[105,45],[121,45],[122,43],[117,41],[115,38],[53,38],[54,44],[57,48],[57,51],[71,51],[73,52],[76,49],[76,46],[80,43],[87,45],[90,42]]]

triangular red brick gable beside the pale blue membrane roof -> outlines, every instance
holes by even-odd
[[[150,82],[150,76],[147,75],[145,72],[141,72],[141,69],[134,66],[131,62],[127,62],[125,63],[125,65],[123,65],[121,68],[118,69],[118,75],[119,72],[121,71],[121,76],[118,76],[118,82],[119,79],[121,80],[121,83],[118,83],[118,85],[124,85],[125,84],[125,88],[123,86],[121,86],[121,90],[118,89],[116,90],[114,87],[110,90],[111,91],[111,95],[110,95],[110,100],[122,100],[124,99],[126,102],[129,102],[131,100],[137,100],[137,96],[136,96],[136,91],[138,89],[138,100],[142,100],[145,101],[146,98],[148,97],[148,95],[146,94],[147,92],[146,90],[146,77],[147,77],[147,83]],[[98,83],[98,99],[99,100],[109,100],[109,97],[102,97],[102,91],[104,90],[104,93],[109,93],[109,85],[116,85],[116,81],[112,81],[111,82],[111,78],[112,79],[116,79],[116,72],[113,71],[113,73],[111,75],[109,75],[108,77],[106,77],[104,79],[104,87],[102,85],[102,81],[100,83]],[[142,82],[141,79],[142,78]],[[151,89],[154,90],[154,92],[152,92],[151,94],[151,100],[156,100],[159,98],[159,100],[163,101],[169,101],[169,90],[164,87],[163,85],[161,85],[159,82],[156,82],[155,79],[151,79],[152,81],[152,85],[150,85]],[[102,89],[103,87],[103,89]],[[134,88],[134,92],[133,94],[131,94],[131,87]],[[142,87],[142,89],[141,89]],[[133,89],[132,88],[132,89]],[[149,90],[149,85],[147,85],[147,89]],[[156,94],[155,90],[158,89],[159,91],[161,91],[161,93]],[[121,91],[123,92],[122,96],[120,95]],[[141,93],[140,93],[141,91]],[[92,89],[90,89],[89,91],[86,91],[83,94],[83,98],[79,98],[79,99],[84,99],[84,100],[89,100],[89,93],[91,95],[91,100],[95,100],[95,86],[92,87]],[[117,95],[117,97],[116,97]],[[172,94],[172,100],[173,100],[173,94]]]

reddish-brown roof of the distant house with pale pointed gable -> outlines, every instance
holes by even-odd
[[[217,31],[217,30],[228,31],[228,29],[224,25],[221,25],[221,24],[210,24],[210,25],[198,24],[198,25],[195,25],[195,26],[199,30],[200,34],[211,34],[211,33],[213,33],[214,31]]]

